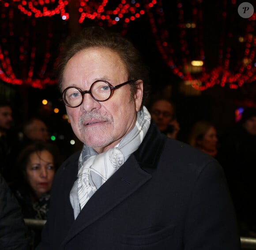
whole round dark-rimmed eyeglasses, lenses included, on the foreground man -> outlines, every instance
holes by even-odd
[[[90,90],[80,90],[77,87],[68,87],[62,92],[62,98],[60,98],[60,101],[63,101],[68,107],[76,108],[82,104],[83,96],[86,93],[90,94],[96,101],[107,101],[111,97],[113,90],[131,82],[135,81],[129,80],[117,86],[112,86],[109,82],[101,80],[94,82],[90,86]]]

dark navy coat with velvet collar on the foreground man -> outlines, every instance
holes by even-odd
[[[53,181],[37,250],[238,250],[236,216],[222,168],[212,157],[151,124],[139,149],[74,220],[69,201],[76,153]]]

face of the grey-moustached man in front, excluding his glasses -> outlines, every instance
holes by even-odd
[[[126,67],[116,52],[89,48],[76,53],[64,69],[62,90],[69,86],[89,90],[97,80],[113,86],[128,80]],[[134,127],[142,96],[142,82],[132,98],[129,85],[114,90],[107,101],[95,101],[90,94],[85,94],[79,107],[66,107],[75,135],[98,153],[116,146]]]

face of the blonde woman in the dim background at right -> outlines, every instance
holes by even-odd
[[[198,142],[198,145],[201,149],[207,152],[213,152],[217,149],[217,132],[214,127],[210,127],[206,134],[203,136],[203,139]]]

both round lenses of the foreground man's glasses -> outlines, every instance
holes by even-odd
[[[106,82],[97,81],[92,84],[88,93],[97,101],[105,101],[110,97],[111,89]],[[83,94],[77,88],[71,87],[64,91],[63,100],[68,106],[76,107],[82,103]]]

